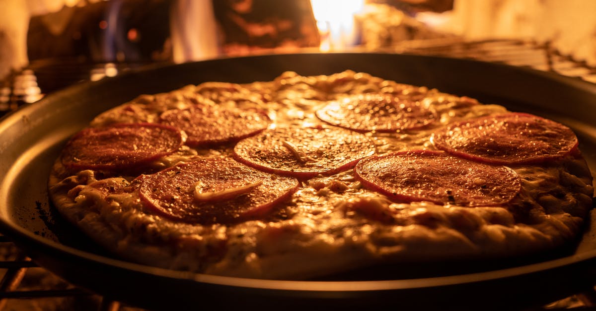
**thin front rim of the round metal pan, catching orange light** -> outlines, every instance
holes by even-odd
[[[290,290],[305,292],[343,292],[343,291],[385,291],[401,290],[406,288],[426,288],[426,287],[445,287],[455,284],[476,283],[490,281],[493,279],[510,278],[523,274],[544,272],[549,269],[558,269],[574,264],[591,264],[596,262],[596,250],[586,251],[581,254],[548,260],[546,262],[532,263],[530,265],[515,266],[499,270],[489,270],[486,272],[468,273],[462,275],[437,276],[432,278],[418,279],[397,279],[397,280],[371,280],[371,281],[293,281],[293,280],[275,280],[275,279],[250,279],[235,278],[231,276],[206,275],[201,273],[190,273],[179,270],[169,270],[145,266],[137,263],[126,262],[123,260],[104,257],[76,248],[60,244],[51,240],[46,240],[39,235],[35,235],[26,229],[13,226],[0,219],[2,232],[10,232],[9,237],[18,237],[15,239],[17,244],[26,243],[40,248],[51,248],[54,251],[63,252],[72,256],[80,257],[89,262],[100,265],[111,265],[116,268],[132,270],[139,273],[149,273],[151,275],[173,278],[185,281],[196,281],[214,285],[226,285],[233,287],[249,287],[266,290]]]

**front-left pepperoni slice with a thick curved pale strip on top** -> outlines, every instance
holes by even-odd
[[[298,187],[294,178],[260,172],[232,158],[180,163],[139,179],[139,197],[149,209],[169,219],[201,224],[232,223],[262,215]],[[204,200],[201,194],[220,199]]]

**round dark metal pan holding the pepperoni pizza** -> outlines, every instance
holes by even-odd
[[[0,121],[0,226],[27,253],[73,284],[150,309],[537,306],[596,284],[591,228],[577,249],[515,262],[375,268],[317,281],[226,278],[157,269],[105,253],[55,215],[46,180],[66,139],[104,110],[139,94],[206,81],[271,80],[285,70],[346,69],[502,104],[559,120],[578,132],[596,167],[596,85],[530,69],[395,54],[288,54],[153,67],[51,94]],[[465,267],[465,268],[462,268]],[[410,273],[403,273],[409,271]],[[380,272],[380,273],[379,273]],[[389,275],[389,277],[387,277]]]

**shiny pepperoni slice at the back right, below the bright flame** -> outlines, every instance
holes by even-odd
[[[381,94],[362,94],[332,101],[317,110],[316,116],[331,125],[358,132],[418,129],[437,119],[434,110],[419,101]]]

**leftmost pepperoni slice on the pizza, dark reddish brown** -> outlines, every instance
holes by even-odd
[[[67,169],[129,169],[172,154],[184,139],[179,129],[153,123],[89,127],[70,139],[62,163]]]

